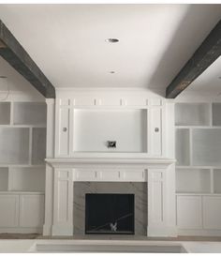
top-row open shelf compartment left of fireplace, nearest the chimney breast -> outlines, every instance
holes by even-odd
[[[14,125],[46,125],[46,104],[44,102],[14,102]]]

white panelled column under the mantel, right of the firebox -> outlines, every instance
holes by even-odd
[[[174,163],[148,170],[148,236],[176,236]]]

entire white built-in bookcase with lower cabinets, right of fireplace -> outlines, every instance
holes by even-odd
[[[220,103],[176,103],[178,234],[221,235]]]

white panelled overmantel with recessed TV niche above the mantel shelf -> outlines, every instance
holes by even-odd
[[[93,99],[93,100],[92,100]],[[55,157],[163,157],[165,103],[140,97],[56,99]],[[135,104],[136,103],[136,104]],[[116,142],[109,147],[108,142]]]

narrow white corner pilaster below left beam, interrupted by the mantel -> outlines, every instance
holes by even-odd
[[[54,158],[54,116],[55,99],[47,98],[47,143],[46,158]],[[46,163],[45,174],[45,222],[43,235],[52,234],[52,213],[53,213],[53,168]]]

